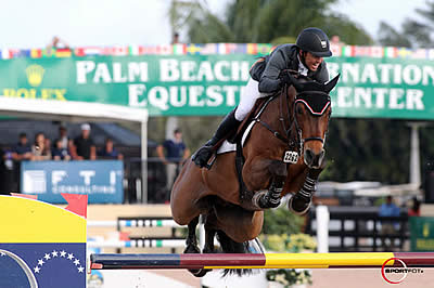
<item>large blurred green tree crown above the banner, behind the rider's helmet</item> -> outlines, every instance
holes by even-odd
[[[296,36],[306,27],[321,27],[350,44],[370,43],[371,38],[347,17],[333,14],[337,0],[232,0],[221,18],[205,1],[174,0],[169,16],[174,29],[184,27],[190,42],[269,43]]]

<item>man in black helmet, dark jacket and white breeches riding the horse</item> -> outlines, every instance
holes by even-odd
[[[192,160],[199,167],[205,167],[213,155],[213,146],[240,126],[257,99],[290,83],[288,75],[280,76],[282,70],[296,70],[322,83],[329,81],[329,71],[322,58],[331,55],[327,35],[319,28],[306,28],[298,35],[295,45],[279,45],[270,55],[256,62],[250,71],[251,79],[242,90],[239,106],[225,117],[214,136],[193,155]]]

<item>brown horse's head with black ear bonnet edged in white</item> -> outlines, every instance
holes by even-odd
[[[326,132],[331,116],[330,91],[336,86],[340,75],[328,83],[319,83],[309,78],[290,78],[294,89],[289,90],[293,103],[292,114],[301,142],[301,153],[309,168],[321,167],[326,150]],[[295,94],[295,96],[294,96]]]

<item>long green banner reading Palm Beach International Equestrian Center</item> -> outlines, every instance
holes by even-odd
[[[150,116],[225,115],[240,102],[252,54],[73,56],[0,61],[0,95],[81,101]],[[334,117],[434,119],[431,58],[332,56]]]

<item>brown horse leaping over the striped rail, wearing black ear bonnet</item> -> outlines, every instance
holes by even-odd
[[[215,156],[210,169],[199,168],[191,160],[182,167],[171,189],[170,208],[174,220],[188,225],[184,253],[201,252],[195,235],[200,215],[205,227],[202,252],[215,252],[217,236],[225,253],[246,253],[248,241],[261,231],[265,209],[279,206],[289,193],[295,193],[289,201],[293,212],[303,214],[309,209],[324,165],[329,93],[339,75],[328,83],[289,75],[291,84],[244,120],[254,123],[242,147],[241,178],[234,152]],[[190,272],[201,277],[207,271]]]

